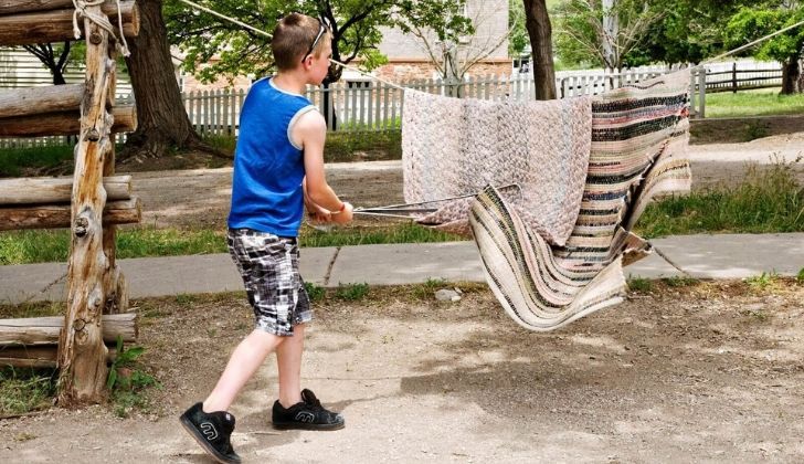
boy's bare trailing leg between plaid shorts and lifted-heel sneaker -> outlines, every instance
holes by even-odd
[[[228,411],[240,390],[256,372],[265,358],[284,345],[288,337],[279,337],[261,329],[255,329],[234,349],[229,358],[226,369],[218,380],[218,384],[203,403],[205,412]],[[302,355],[299,354],[299,363]]]

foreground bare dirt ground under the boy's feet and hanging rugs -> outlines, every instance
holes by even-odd
[[[454,304],[399,287],[319,304],[304,384],[347,426],[273,431],[272,359],[232,408],[245,462],[804,461],[804,286],[654,288],[550,334],[466,291]],[[129,419],[92,407],[0,421],[0,462],[212,462],[177,416],[250,330],[244,298],[135,306],[163,387],[154,405]]]

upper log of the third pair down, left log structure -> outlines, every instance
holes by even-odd
[[[109,201],[129,200],[131,198],[131,176],[104,177],[104,189],[106,189],[106,199]],[[0,179],[0,208],[68,203],[72,194],[72,177]]]

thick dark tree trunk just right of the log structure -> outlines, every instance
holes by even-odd
[[[128,41],[126,59],[137,102],[137,130],[128,136],[120,159],[154,158],[168,148],[201,147],[187,116],[170,57],[161,0],[138,2],[140,33]]]

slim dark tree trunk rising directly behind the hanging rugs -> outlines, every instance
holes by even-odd
[[[556,71],[552,53],[552,27],[544,0],[525,1],[525,15],[533,55],[536,99],[556,98]]]

